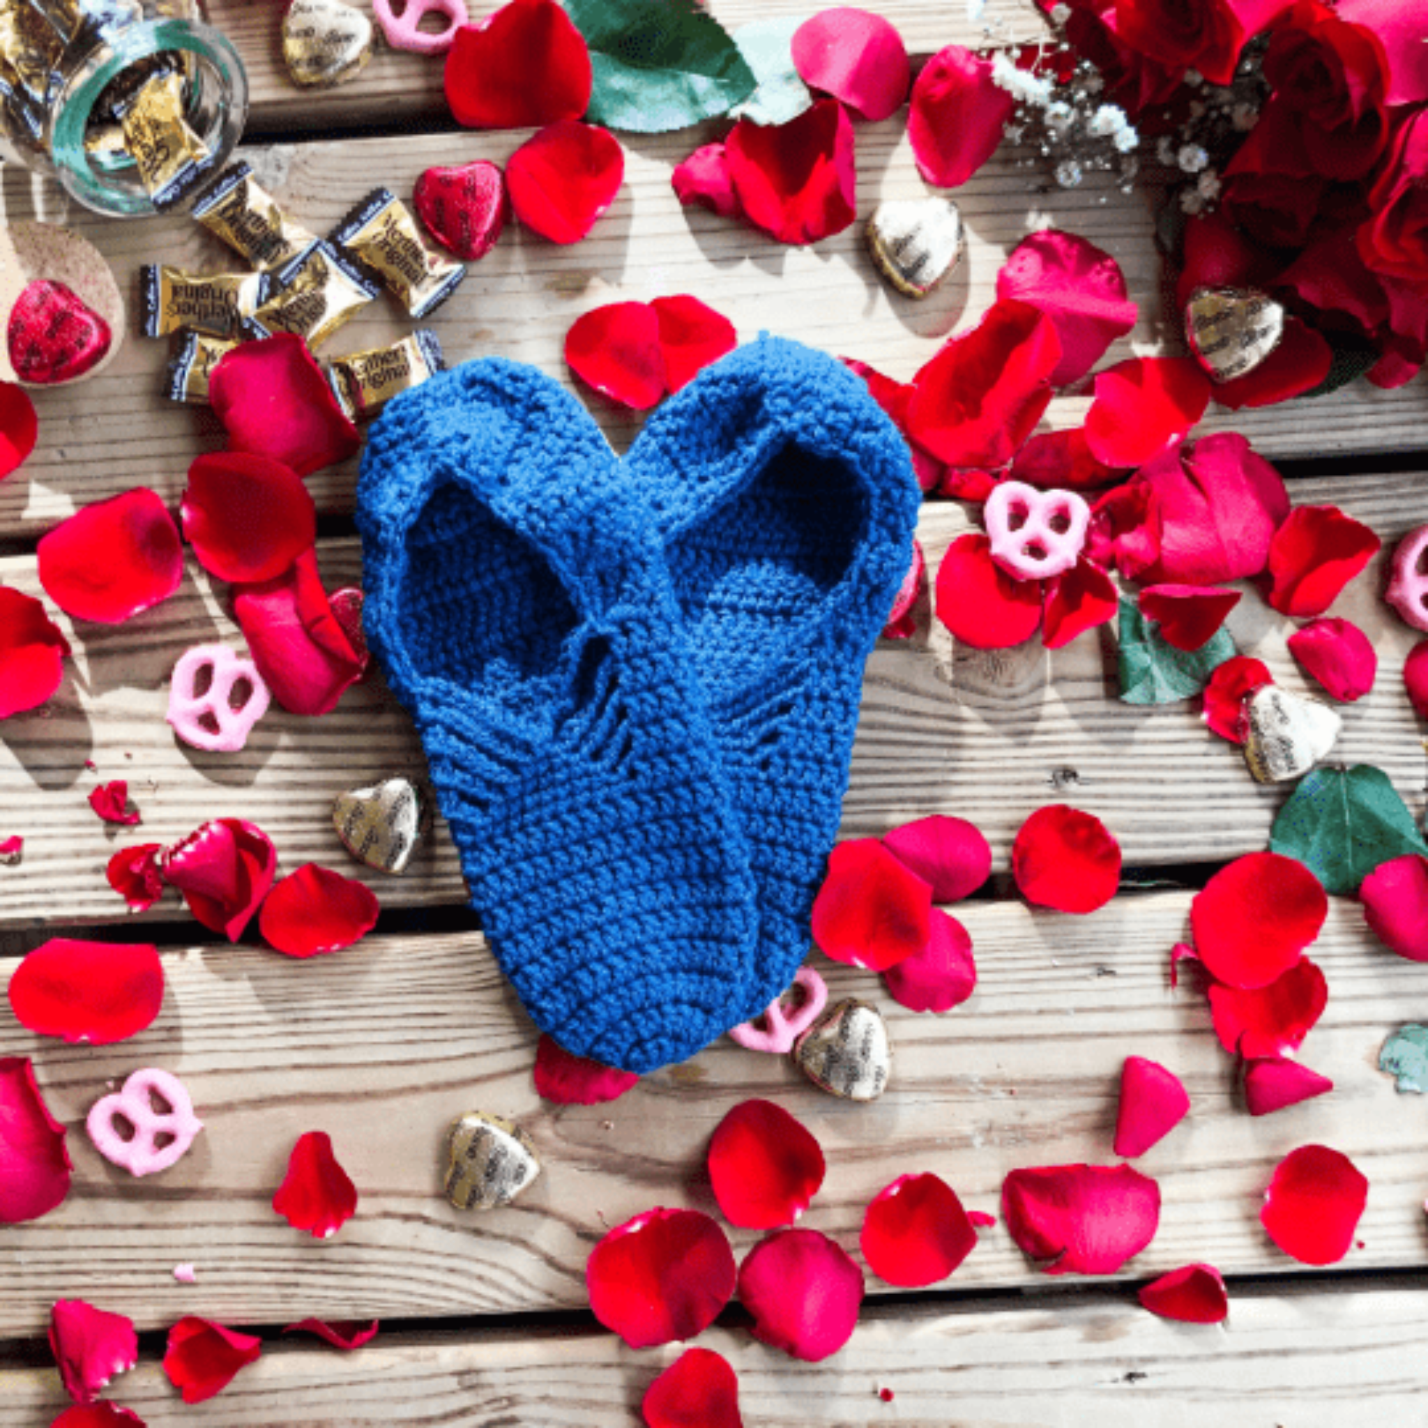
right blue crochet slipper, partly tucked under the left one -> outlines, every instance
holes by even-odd
[[[907,443],[841,363],[764,337],[660,407],[655,513],[758,891],[747,1020],[791,981],[848,785],[863,667],[912,560]]]

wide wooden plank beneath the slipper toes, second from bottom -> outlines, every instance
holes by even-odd
[[[618,1102],[543,1105],[533,1028],[474,935],[373,938],[301,965],[251,947],[166,954],[164,1010],[131,1042],[64,1047],[0,1025],[0,1055],[33,1055],[53,1112],[76,1127],[69,1200],[0,1235],[0,1338],[39,1335],[61,1297],[150,1327],[184,1312],[284,1324],[583,1307],[585,1258],[608,1225],[651,1205],[713,1208],[708,1137],[753,1095],[820,1138],[828,1178],[801,1224],[854,1250],[864,1207],[897,1175],[935,1171],[970,1208],[997,1211],[1015,1167],[1110,1162],[1132,1052],[1174,1070],[1192,1111],[1138,1162],[1164,1208],[1128,1274],[1195,1259],[1227,1274],[1294,1271],[1257,1212],[1274,1165],[1305,1142],[1351,1155],[1372,1185],[1345,1268],[1421,1265],[1428,1104],[1398,1095],[1375,1061],[1391,1027],[1424,1018],[1424,970],[1385,952],[1357,904],[1335,901],[1314,948],[1328,1011],[1304,1054],[1337,1090],[1252,1120],[1202,997],[1168,987],[1188,905],[1185,894],[1122,897],[1087,918],[965,905],[980,985],[947,1017],[902,1011],[871,974],[820,960],[835,997],[871,997],[887,1015],[892,1081],[874,1105],[837,1101],[788,1061],[727,1040]],[[206,1131],[171,1171],[136,1182],[99,1160],[79,1122],[107,1080],[141,1065],[183,1078]],[[443,1198],[438,1151],[450,1120],[476,1108],[517,1117],[545,1172],[511,1208],[473,1220]],[[327,1242],[270,1208],[308,1130],[333,1135],[363,1197]],[[734,1231],[735,1251],[757,1238]],[[197,1285],[174,1284],[180,1262],[197,1265]],[[952,1287],[1032,1282],[1045,1281],[998,1227]]]

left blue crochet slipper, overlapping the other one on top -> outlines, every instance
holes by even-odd
[[[643,1072],[744,1020],[747,844],[650,513],[585,410],[500,358],[440,374],[374,424],[357,524],[371,647],[537,1025]]]

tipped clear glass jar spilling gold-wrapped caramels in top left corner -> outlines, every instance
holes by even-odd
[[[119,113],[164,71],[181,73],[184,121],[210,156],[204,173],[217,173],[243,133],[248,84],[200,0],[0,0],[0,156],[97,213],[154,213]]]

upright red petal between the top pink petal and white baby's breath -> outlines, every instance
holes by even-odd
[[[918,71],[907,137],[917,171],[940,188],[955,188],[995,153],[1015,100],[991,79],[991,60],[961,44],[938,50]]]

